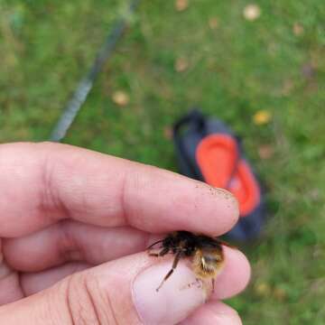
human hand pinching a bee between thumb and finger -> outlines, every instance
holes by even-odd
[[[173,230],[227,232],[227,191],[70,145],[2,144],[0,193],[0,324],[240,324],[220,300],[248,282],[242,253],[224,247],[205,302],[185,261],[156,292],[172,256],[144,252]]]

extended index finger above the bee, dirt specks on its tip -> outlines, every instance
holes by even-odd
[[[0,192],[0,237],[63,218],[217,236],[238,218],[237,201],[226,190],[67,144],[0,145]]]

